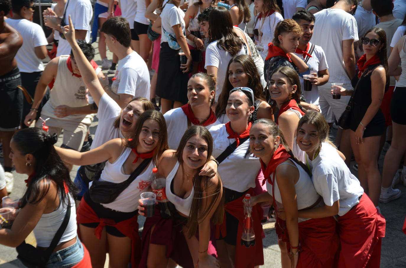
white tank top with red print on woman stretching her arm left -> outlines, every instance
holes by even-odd
[[[109,181],[111,183],[121,183],[130,177],[130,175],[123,173],[123,164],[127,160],[128,155],[131,153],[131,148],[126,147],[121,153],[120,157],[114,163],[106,162],[100,181]],[[116,200],[109,204],[102,204],[105,208],[110,208],[115,211],[133,212],[137,209],[138,199],[140,195],[147,191],[148,186],[151,184],[153,161],[149,163],[147,169],[138,175],[136,179],[128,185],[124,191],[117,196]],[[90,185],[89,185],[90,187]]]

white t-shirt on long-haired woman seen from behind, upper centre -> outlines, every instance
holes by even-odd
[[[241,46],[240,52],[236,55],[246,55],[244,45]],[[228,79],[227,65],[232,57],[231,53],[217,46],[217,41],[207,46],[204,68],[207,69],[207,66],[217,67],[216,102],[223,89],[225,79]]]

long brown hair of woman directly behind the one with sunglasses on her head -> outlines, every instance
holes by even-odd
[[[229,94],[233,86],[231,85],[228,79],[228,70],[230,68],[230,64],[233,62],[238,62],[241,64],[244,72],[248,75],[248,85],[247,87],[251,88],[254,91],[255,100],[265,100],[265,96],[263,95],[263,88],[261,84],[261,79],[259,78],[259,73],[257,66],[251,57],[248,55],[237,55],[231,58],[229,64],[227,65],[227,73],[226,78],[224,80],[223,89],[218,96],[218,102],[216,105],[216,117],[219,118],[222,114],[226,112],[227,101],[229,98]]]

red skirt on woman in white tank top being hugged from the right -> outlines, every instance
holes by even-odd
[[[339,238],[336,232],[336,221],[333,217],[309,219],[300,222],[299,242],[300,253],[297,268],[328,268],[333,267],[335,253],[339,247]],[[276,234],[286,242],[287,252],[290,252],[289,234],[286,221],[277,218],[275,223]]]

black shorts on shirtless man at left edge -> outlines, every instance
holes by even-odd
[[[16,67],[0,77],[0,131],[14,131],[20,128],[23,115],[23,92],[20,71]]]

